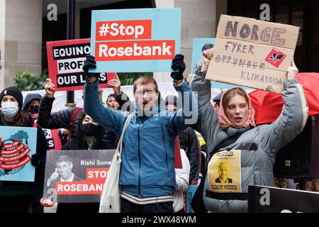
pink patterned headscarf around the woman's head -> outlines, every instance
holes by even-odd
[[[232,89],[241,89],[243,92],[245,92],[245,90],[240,88],[240,87],[234,87]],[[220,128],[222,128],[222,129],[228,128],[229,126],[234,127],[234,125],[232,123],[230,123],[228,117],[225,114],[225,110],[223,108],[223,99],[224,99],[225,93],[223,94],[223,96],[220,99],[220,105],[219,105],[219,109],[218,109],[218,121],[220,123]],[[248,96],[248,94],[246,92],[245,92],[245,94],[246,94],[248,101],[249,101],[249,105],[248,105],[249,109],[248,109],[247,121],[244,123],[244,125],[242,127],[243,128],[247,128],[249,126],[255,127],[256,124],[254,123],[254,107],[252,107],[252,101],[250,101],[250,96]]]

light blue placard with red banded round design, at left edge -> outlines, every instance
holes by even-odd
[[[34,182],[37,128],[0,126],[0,181]]]

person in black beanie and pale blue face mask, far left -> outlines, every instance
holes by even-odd
[[[0,94],[0,126],[34,127],[30,114],[22,111],[23,96],[17,87],[8,87]],[[37,153],[32,155],[35,182],[0,181],[0,213],[43,212],[38,201],[43,194],[45,155],[48,150],[45,135],[37,127]]]

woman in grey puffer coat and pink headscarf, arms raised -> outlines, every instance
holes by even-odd
[[[216,112],[210,102],[211,82],[205,79],[211,57],[213,49],[203,52],[203,67],[196,70],[191,83],[192,90],[198,92],[201,113],[196,126],[210,153],[225,139],[236,134],[237,138],[211,153],[203,203],[210,212],[247,212],[248,186],[273,185],[276,153],[303,130],[308,116],[306,98],[295,79],[298,69],[291,62],[281,93],[284,106],[274,123],[255,125],[250,97],[239,87],[223,94]]]

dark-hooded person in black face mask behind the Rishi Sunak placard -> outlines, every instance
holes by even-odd
[[[109,145],[103,140],[105,130],[93,118],[82,111],[79,114],[79,126],[77,128],[77,138],[72,138],[69,143],[62,147],[62,150],[103,150]],[[44,198],[40,199],[43,206],[53,206],[52,201]],[[89,212],[99,213],[99,203],[59,203],[57,213]]]

